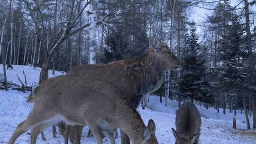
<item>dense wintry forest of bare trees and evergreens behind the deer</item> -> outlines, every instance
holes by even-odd
[[[191,18],[194,9],[207,11],[203,21]],[[256,128],[255,0],[0,2],[0,63],[42,67],[41,81],[48,69],[137,57],[155,35],[183,62],[180,73],[163,73],[161,102],[245,110]]]

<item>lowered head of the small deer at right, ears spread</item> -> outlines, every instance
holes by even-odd
[[[174,137],[176,138],[175,144],[194,144],[198,139],[200,134],[188,136],[188,135],[178,135],[177,132],[172,128]]]

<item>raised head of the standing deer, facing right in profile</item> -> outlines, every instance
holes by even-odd
[[[153,36],[151,39],[150,47],[154,49],[155,55],[160,62],[160,67],[166,70],[180,71],[182,63],[177,56],[169,49],[167,45],[163,45],[159,38]]]

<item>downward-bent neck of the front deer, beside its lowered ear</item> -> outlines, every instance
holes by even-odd
[[[142,144],[142,133],[146,126],[137,110],[123,106],[121,114],[120,130],[130,137],[133,144]]]

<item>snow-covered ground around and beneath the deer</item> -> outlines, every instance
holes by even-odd
[[[40,68],[33,69],[30,66],[14,65],[14,70],[7,71],[8,81],[19,84],[16,74],[23,80],[22,71],[27,75],[27,83],[36,85],[39,78]],[[0,65],[0,73],[2,65]],[[51,73],[51,71],[49,72]],[[55,72],[55,76],[62,75],[61,72]],[[53,75],[49,75],[53,77]],[[26,105],[26,98],[29,92],[20,92],[17,90],[0,90],[0,144],[7,144],[10,136],[16,126],[22,122],[29,114],[32,105]],[[175,139],[171,128],[175,128],[175,110],[178,104],[168,99],[168,107],[159,102],[159,97],[151,96],[148,108],[137,110],[141,114],[145,124],[149,119],[153,119],[156,125],[156,137],[159,144],[174,144]],[[246,129],[244,114],[238,112],[237,130],[232,129],[233,114],[227,111],[227,114],[217,113],[215,109],[205,109],[198,107],[202,115],[200,144],[256,144],[256,131]],[[220,112],[222,112],[220,110]],[[250,117],[250,121],[252,119]],[[96,144],[93,137],[87,138],[88,127],[84,127],[82,135],[82,144]],[[43,141],[41,136],[37,138],[37,144],[64,144],[64,138],[57,134],[52,137],[51,128],[45,131],[47,141]],[[21,135],[15,144],[29,144],[30,135],[27,133]],[[120,144],[120,137],[116,140]],[[110,144],[107,138],[103,140],[104,144]]]

